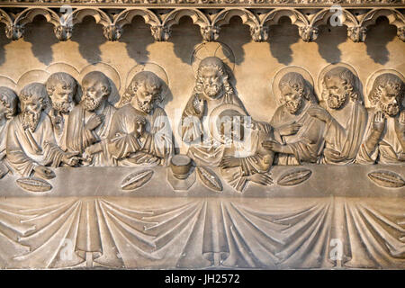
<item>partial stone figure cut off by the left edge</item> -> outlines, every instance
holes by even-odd
[[[9,171],[5,164],[5,140],[10,120],[17,112],[17,95],[8,87],[0,87],[0,179]]]

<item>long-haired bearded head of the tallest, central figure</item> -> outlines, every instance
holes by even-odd
[[[228,74],[220,58],[202,59],[197,71],[196,94],[204,94],[211,99],[220,98],[225,93],[233,93],[228,81]]]

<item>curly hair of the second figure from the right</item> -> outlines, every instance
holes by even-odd
[[[349,94],[352,102],[361,101],[360,94],[356,89],[356,76],[347,67],[334,67],[330,69],[322,79],[323,93],[326,93],[326,80],[331,79],[334,76],[338,76],[342,81],[342,85]],[[323,97],[322,97],[323,98]]]

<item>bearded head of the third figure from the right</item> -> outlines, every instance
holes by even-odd
[[[300,112],[305,101],[314,101],[311,91],[300,73],[289,72],[285,74],[278,84],[282,103],[288,112],[296,114]]]

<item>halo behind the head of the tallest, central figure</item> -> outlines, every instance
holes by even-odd
[[[230,69],[228,72],[233,72],[235,68],[235,55],[229,46],[221,42],[203,42],[194,48],[191,58],[190,64],[195,78],[197,77],[198,67],[202,59],[212,56],[220,58],[226,64],[225,67]]]

